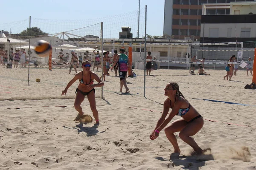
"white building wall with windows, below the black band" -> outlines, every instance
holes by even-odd
[[[201,24],[201,37],[209,37],[209,28],[219,28],[218,38],[221,38],[221,37],[227,38],[228,28],[232,28],[231,29],[232,38],[235,38],[236,35],[238,38],[240,38],[241,28],[251,28],[250,37],[256,37],[256,23]]]

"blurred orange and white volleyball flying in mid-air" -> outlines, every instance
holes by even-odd
[[[35,54],[37,54],[40,57],[48,57],[49,53],[51,51],[52,46],[49,42],[44,40],[39,40],[36,42],[35,46]]]

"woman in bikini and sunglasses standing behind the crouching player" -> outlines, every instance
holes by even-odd
[[[97,74],[90,71],[91,64],[89,61],[82,62],[83,71],[80,71],[75,75],[75,77],[70,80],[67,84],[67,87],[62,91],[61,95],[65,95],[67,93],[67,89],[79,79],[79,85],[76,88],[76,99],[75,99],[75,109],[78,111],[78,115],[75,120],[79,120],[81,116],[84,114],[81,108],[81,103],[84,101],[84,96],[87,96],[88,101],[90,102],[90,108],[93,112],[93,117],[95,118],[96,123],[99,123],[99,114],[96,109],[96,101],[95,101],[95,87],[102,87],[104,82],[99,79]],[[96,80],[98,83],[93,84],[93,80]]]

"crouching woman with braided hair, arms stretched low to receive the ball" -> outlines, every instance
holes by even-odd
[[[193,147],[198,155],[202,154],[204,150],[202,150],[190,136],[194,136],[203,127],[204,119],[184,98],[182,93],[179,91],[179,85],[176,82],[168,83],[164,91],[164,95],[168,96],[168,99],[164,101],[163,114],[158,120],[154,131],[151,133],[150,139],[156,139],[159,136],[160,131],[166,127],[172,118],[175,115],[179,115],[182,118],[175,120],[164,130],[166,137],[174,147],[174,153],[180,153],[180,148],[174,135],[175,132],[180,132],[180,139]],[[166,118],[170,108],[172,108],[172,111]]]

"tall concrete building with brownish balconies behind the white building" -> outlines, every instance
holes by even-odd
[[[174,39],[200,39],[202,4],[251,2],[256,0],[165,0],[163,34]],[[228,15],[230,9],[207,9],[207,15]]]

